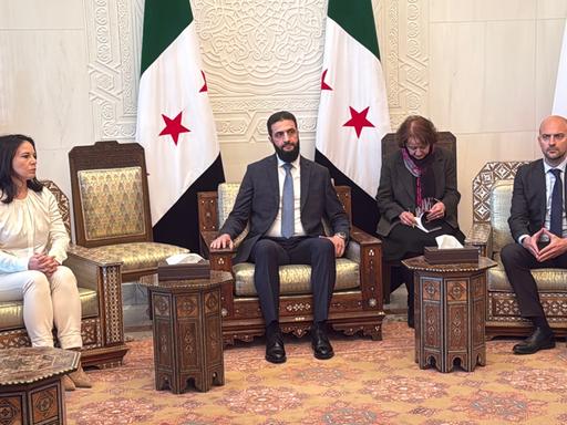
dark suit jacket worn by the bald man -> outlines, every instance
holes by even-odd
[[[564,186],[567,178],[563,176]],[[544,160],[537,159],[518,167],[514,177],[509,230],[515,241],[522,235],[534,235],[545,225],[546,187]],[[567,197],[565,199],[567,201]],[[567,209],[567,205],[566,205]]]

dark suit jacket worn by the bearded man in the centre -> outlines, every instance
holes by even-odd
[[[329,170],[300,157],[301,224],[308,236],[324,235],[321,220],[327,219],[333,232],[349,235],[350,221],[331,184]],[[276,154],[248,165],[233,211],[219,234],[235,239],[248,220],[250,231],[238,247],[235,263],[248,259],[256,241],[274,224],[280,205],[278,160]]]

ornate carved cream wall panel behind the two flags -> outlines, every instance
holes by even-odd
[[[221,144],[266,141],[287,108],[313,141],[328,0],[192,0]],[[144,0],[85,1],[97,139],[135,137]],[[392,126],[426,113],[427,0],[373,0]],[[226,159],[225,159],[226,160]]]

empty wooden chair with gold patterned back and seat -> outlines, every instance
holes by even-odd
[[[122,263],[122,280],[157,271],[187,249],[153,241],[144,148],[96,142],[69,153],[76,245]]]

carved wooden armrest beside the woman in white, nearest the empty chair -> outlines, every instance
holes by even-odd
[[[104,345],[124,343],[122,314],[122,262],[93,256],[89,248],[71,245],[63,265],[76,277],[80,287],[99,294],[99,314]]]

